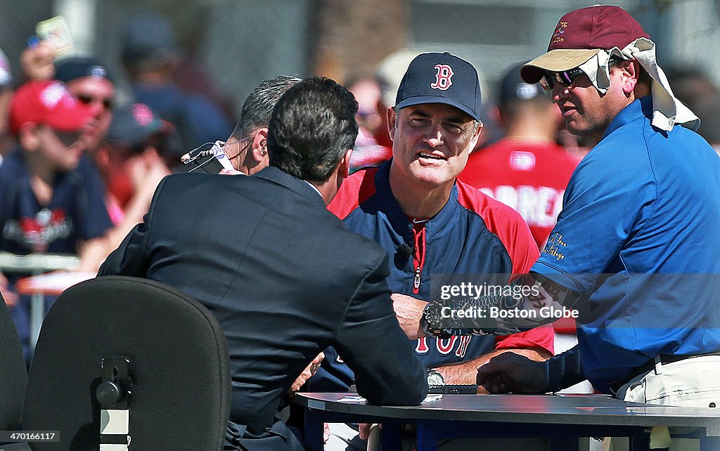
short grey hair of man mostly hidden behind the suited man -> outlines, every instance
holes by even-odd
[[[250,136],[253,130],[267,127],[272,109],[280,96],[300,81],[302,81],[301,78],[290,76],[276,76],[261,81],[245,99],[243,110],[240,111],[240,119],[235,125],[232,136],[236,140],[242,140]]]

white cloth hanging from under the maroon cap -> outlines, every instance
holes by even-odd
[[[652,77],[650,88],[653,110],[651,124],[654,127],[667,132],[670,132],[676,124],[691,130],[697,130],[700,127],[700,119],[672,94],[672,88],[670,88],[665,72],[657,65],[655,43],[647,38],[639,37],[630,42],[623,50],[618,47],[611,50],[600,50],[597,55],[580,65],[580,69],[588,74],[593,86],[600,93],[605,94],[610,86],[608,61],[613,55],[637,60]]]

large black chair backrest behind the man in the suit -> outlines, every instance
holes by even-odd
[[[127,404],[126,437],[107,429],[117,416],[106,409],[113,390],[128,388],[109,408]],[[130,439],[130,450],[221,450],[229,416],[225,335],[210,311],[174,288],[96,278],[68,288],[45,316],[22,424],[58,431],[60,442],[34,442],[33,450],[96,450],[101,426],[102,442]],[[122,449],[104,445],[111,448]]]

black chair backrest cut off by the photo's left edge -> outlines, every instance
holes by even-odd
[[[22,398],[27,385],[27,367],[15,324],[0,295],[0,430],[20,425]]]

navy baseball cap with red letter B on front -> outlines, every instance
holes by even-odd
[[[395,108],[446,104],[480,120],[480,80],[477,70],[450,53],[421,53],[400,81]]]

